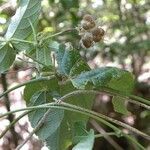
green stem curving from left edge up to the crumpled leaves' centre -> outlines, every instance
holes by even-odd
[[[30,80],[30,81],[21,83],[21,84],[19,84],[19,85],[14,86],[14,87],[11,88],[11,89],[6,90],[6,91],[3,92],[2,94],[0,94],[0,98],[3,97],[4,95],[8,94],[9,92],[11,92],[11,91],[13,91],[13,90],[15,90],[15,89],[18,89],[18,88],[20,88],[20,87],[22,87],[22,86],[25,86],[25,85],[28,85],[28,84],[32,84],[32,83],[37,82],[37,81],[48,81],[48,80],[53,79],[54,77],[55,77],[54,75],[49,76],[49,77],[40,77],[40,78],[37,78],[37,79],[32,79],[32,80]]]

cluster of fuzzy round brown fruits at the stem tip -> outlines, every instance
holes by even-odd
[[[85,15],[79,27],[79,35],[81,36],[80,44],[83,48],[93,46],[95,42],[103,39],[105,31],[96,25],[91,15]]]

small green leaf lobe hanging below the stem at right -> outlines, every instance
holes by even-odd
[[[112,98],[112,104],[114,107],[114,110],[118,113],[121,113],[123,115],[128,115],[129,111],[126,108],[125,100],[119,96],[114,96]]]

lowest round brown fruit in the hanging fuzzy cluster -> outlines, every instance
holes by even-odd
[[[91,33],[86,33],[81,39],[81,46],[89,48],[93,45],[93,36]]]

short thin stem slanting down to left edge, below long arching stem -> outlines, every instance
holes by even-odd
[[[31,111],[26,111],[23,114],[21,114],[19,117],[17,117],[16,119],[13,120],[13,122],[11,122],[6,129],[1,133],[0,135],[0,139],[7,133],[7,131],[14,125],[16,124],[22,117],[24,117],[25,115],[27,115],[28,113],[30,113]]]

